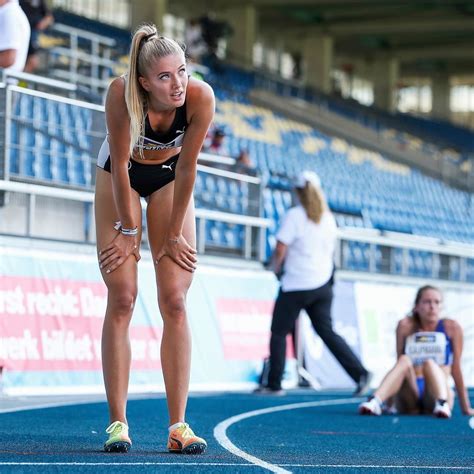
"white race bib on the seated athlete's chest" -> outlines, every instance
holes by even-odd
[[[446,364],[446,335],[442,332],[416,332],[407,337],[405,354],[413,365],[422,365],[432,359],[438,365]]]

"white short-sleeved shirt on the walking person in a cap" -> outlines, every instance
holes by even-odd
[[[334,267],[337,225],[326,211],[316,224],[303,206],[291,208],[276,238],[288,246],[281,278],[283,291],[314,290],[331,278]]]

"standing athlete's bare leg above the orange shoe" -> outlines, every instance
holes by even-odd
[[[148,241],[153,259],[161,249],[173,207],[174,183],[153,193],[148,201]],[[190,202],[183,236],[196,247],[194,203]],[[165,380],[170,425],[185,421],[191,371],[191,334],[186,314],[186,295],[193,274],[164,256],[156,265],[158,303],[163,318],[161,364]]]

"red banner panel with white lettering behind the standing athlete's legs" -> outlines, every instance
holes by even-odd
[[[103,283],[0,277],[0,366],[100,370]],[[159,369],[161,328],[131,326],[132,368]]]

